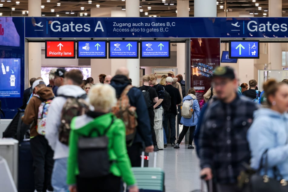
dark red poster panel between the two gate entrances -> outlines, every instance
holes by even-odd
[[[204,105],[203,95],[211,88],[213,70],[220,66],[220,39],[191,38],[191,87],[196,90],[200,108]]]

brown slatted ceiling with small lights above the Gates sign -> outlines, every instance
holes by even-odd
[[[139,0],[140,1],[140,12],[141,17],[149,17],[156,15],[157,17],[176,17],[177,16],[177,0]],[[252,12],[254,17],[262,17],[263,14],[268,10],[269,0],[257,0],[256,3],[259,3],[259,7],[262,9],[259,10],[255,6],[255,2],[251,0],[226,0],[227,1],[227,10],[228,12]],[[19,4],[16,4],[17,1],[11,2],[0,2],[0,13],[2,16],[28,16],[28,0],[19,0]],[[101,8],[112,8],[120,7],[124,8],[125,1],[122,0],[42,0],[42,9],[41,14],[45,17],[55,17],[59,15],[60,17],[90,17],[91,8],[96,8],[96,5],[99,9]],[[91,2],[91,3],[90,3]],[[3,6],[1,6],[3,4]],[[225,0],[217,1],[217,13],[224,12],[223,7],[225,6]],[[150,7],[150,8],[149,8]],[[12,8],[15,8],[12,11]],[[194,1],[189,1],[189,16],[194,17]],[[51,12],[51,10],[54,12]],[[282,10],[283,17],[288,17],[288,0],[282,1]],[[24,14],[22,13],[24,12]],[[145,15],[145,12],[148,14]],[[86,14],[85,14],[86,13]],[[257,14],[258,13],[258,14]],[[269,12],[268,12],[269,14]]]

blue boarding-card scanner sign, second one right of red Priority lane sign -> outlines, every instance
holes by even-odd
[[[109,41],[109,58],[139,58],[138,41]]]

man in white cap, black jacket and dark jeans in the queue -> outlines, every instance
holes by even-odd
[[[167,111],[167,113],[164,114],[164,120],[163,120],[163,127],[165,129],[167,141],[168,141],[168,121],[170,124],[170,143],[171,146],[175,146],[175,140],[176,140],[176,115],[177,115],[177,104],[181,103],[181,96],[179,93],[179,90],[177,88],[174,88],[172,86],[173,78],[167,77],[166,78],[166,86],[165,90],[170,94],[171,97],[171,107],[170,110]]]

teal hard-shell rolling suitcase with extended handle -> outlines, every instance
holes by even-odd
[[[144,152],[142,153],[142,157]],[[154,167],[144,167],[144,158],[141,167],[132,167],[139,192],[164,192],[164,170],[156,167],[157,152],[154,152]]]

